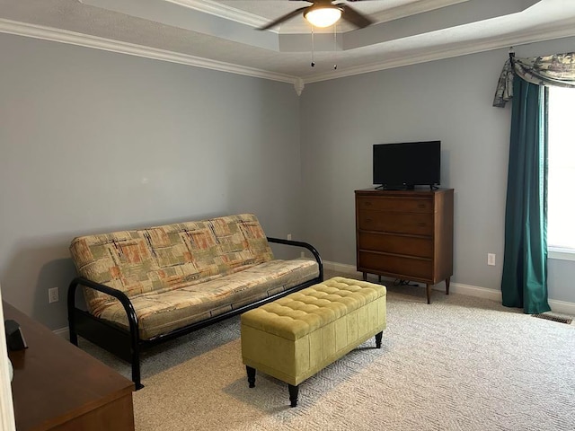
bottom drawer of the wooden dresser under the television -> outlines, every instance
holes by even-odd
[[[358,270],[384,272],[405,279],[433,279],[431,259],[409,258],[391,254],[358,251]]]

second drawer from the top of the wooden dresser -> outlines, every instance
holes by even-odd
[[[358,211],[358,228],[362,231],[433,235],[433,214]]]

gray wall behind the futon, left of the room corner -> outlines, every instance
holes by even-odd
[[[78,234],[253,212],[300,236],[291,84],[5,34],[0,56],[0,283],[22,312],[67,326]]]

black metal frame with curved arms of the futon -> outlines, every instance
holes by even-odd
[[[87,278],[75,277],[70,283],[67,293],[67,311],[68,311],[68,327],[70,333],[70,342],[73,343],[75,346],[77,346],[78,335],[79,335],[84,339],[91,341],[93,344],[102,347],[105,350],[108,350],[113,355],[118,356],[120,359],[127,361],[128,363],[131,364],[132,367],[132,381],[135,383],[136,389],[139,390],[143,388],[144,385],[141,383],[141,373],[140,373],[140,353],[146,350],[147,348],[157,346],[158,344],[164,343],[165,341],[171,339],[176,339],[178,337],[181,337],[182,335],[189,334],[194,330],[205,328],[208,325],[211,325],[212,323],[223,321],[228,317],[241,314],[242,312],[247,312],[252,308],[259,307],[263,303],[270,303],[271,301],[274,301],[279,297],[291,294],[305,287],[313,286],[317,283],[323,282],[323,262],[322,258],[320,257],[320,254],[318,253],[318,251],[315,250],[314,246],[312,246],[307,242],[283,240],[280,238],[272,238],[272,237],[267,238],[268,242],[305,248],[308,251],[311,251],[311,253],[314,255],[314,259],[317,261],[319,265],[318,277],[306,281],[301,285],[291,287],[277,295],[272,295],[265,299],[261,299],[260,301],[243,305],[242,307],[232,310],[230,312],[225,312],[215,317],[195,322],[193,324],[190,324],[189,326],[180,328],[178,330],[173,330],[171,332],[158,335],[153,339],[140,339],[138,331],[138,323],[137,323],[137,314],[127,295],[125,295],[123,292],[120,292],[119,290],[111,288],[110,286],[95,283],[91,280],[88,280]],[[94,317],[89,312],[86,312],[78,308],[75,304],[75,297],[78,286],[92,288],[117,298],[119,302],[123,305],[124,310],[126,311],[126,314],[128,316],[129,330],[124,330],[122,328],[119,328],[118,326],[108,323],[107,321],[102,321],[101,319]]]

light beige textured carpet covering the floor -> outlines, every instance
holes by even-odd
[[[239,318],[146,352],[134,392],[145,430],[572,430],[575,326],[491,300],[389,286],[387,329],[300,386],[248,388]],[[129,365],[80,347],[129,378]]]

